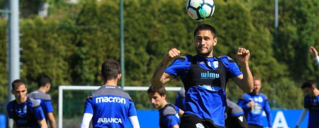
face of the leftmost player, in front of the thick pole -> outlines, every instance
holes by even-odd
[[[26,101],[26,85],[23,84],[15,86],[15,89],[12,90],[11,93],[14,95],[18,103],[24,103]]]

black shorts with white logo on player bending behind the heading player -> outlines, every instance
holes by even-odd
[[[244,114],[238,116],[227,115],[225,120],[226,128],[248,128],[247,120]]]

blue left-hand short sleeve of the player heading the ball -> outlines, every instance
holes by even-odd
[[[186,55],[179,57],[174,60],[174,62],[169,65],[165,72],[171,76],[180,76],[182,73],[188,72],[190,62],[188,62],[188,57]]]

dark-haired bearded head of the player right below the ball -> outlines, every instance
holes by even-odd
[[[212,55],[213,47],[217,44],[214,27],[208,24],[199,25],[194,31],[194,39],[198,55],[202,57]]]

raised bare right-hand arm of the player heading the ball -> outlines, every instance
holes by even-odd
[[[233,81],[246,93],[250,93],[254,89],[253,76],[248,64],[249,56],[250,52],[248,49],[238,48],[236,58],[239,62],[242,75],[233,77]]]

